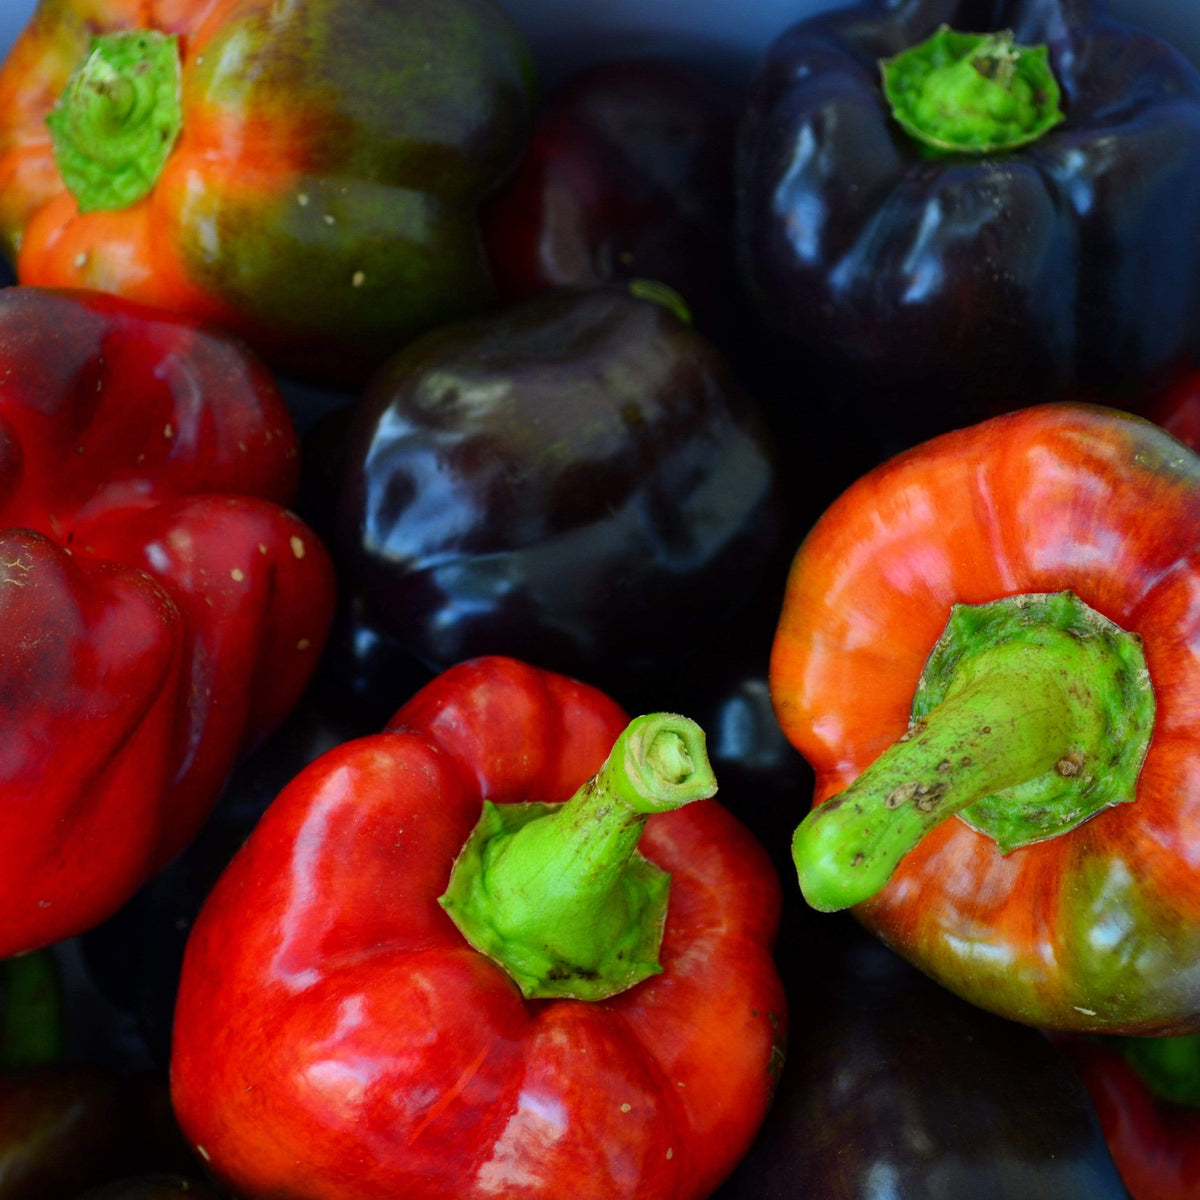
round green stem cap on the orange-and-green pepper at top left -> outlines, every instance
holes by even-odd
[[[179,40],[142,29],[97,37],[46,124],[80,212],[134,204],[182,125]]]

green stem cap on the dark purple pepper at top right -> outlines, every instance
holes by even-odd
[[[1063,120],[1045,46],[1018,46],[1010,30],[932,37],[880,62],[892,115],[938,152],[994,154],[1037,140]]]

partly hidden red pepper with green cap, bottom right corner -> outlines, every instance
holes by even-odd
[[[1133,1200],[1200,1190],[1200,1040],[1070,1038],[1063,1050],[1096,1106]]]

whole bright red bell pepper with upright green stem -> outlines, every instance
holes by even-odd
[[[494,656],[301,772],[184,960],[172,1094],[217,1180],[708,1195],[786,1021],[778,878],[712,787],[697,726]]]

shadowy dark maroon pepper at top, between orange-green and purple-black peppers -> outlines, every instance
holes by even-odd
[[[727,350],[742,331],[733,223],[739,89],[671,59],[618,59],[546,97],[480,211],[502,298],[653,278]]]

